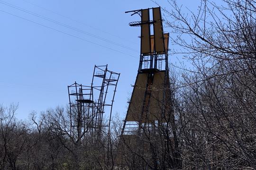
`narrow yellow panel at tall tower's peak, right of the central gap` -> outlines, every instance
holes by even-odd
[[[163,26],[160,8],[153,8],[155,52],[165,52]]]

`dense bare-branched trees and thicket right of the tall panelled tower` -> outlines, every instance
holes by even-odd
[[[255,169],[256,2],[202,0],[189,14],[174,0],[170,5],[166,25],[182,47],[173,54],[193,65],[182,68],[176,103],[183,168]]]

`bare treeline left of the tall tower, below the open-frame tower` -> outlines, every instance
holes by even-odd
[[[33,112],[29,121],[15,118],[17,108],[0,106],[0,170],[111,169],[107,135],[97,142],[90,140],[92,136],[78,141],[67,129],[69,112],[64,108],[47,110],[38,118]],[[115,123],[111,146],[117,143]]]

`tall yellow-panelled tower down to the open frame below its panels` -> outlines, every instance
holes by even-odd
[[[129,26],[141,27],[138,73],[121,133],[121,136],[130,137],[135,130],[140,131],[140,128],[164,121],[164,103],[167,104],[167,96],[170,94],[169,33],[165,34],[163,31],[160,7],[126,13],[132,13],[131,16],[138,14],[141,17],[141,21],[129,23]],[[153,19],[150,19],[151,16]]]

